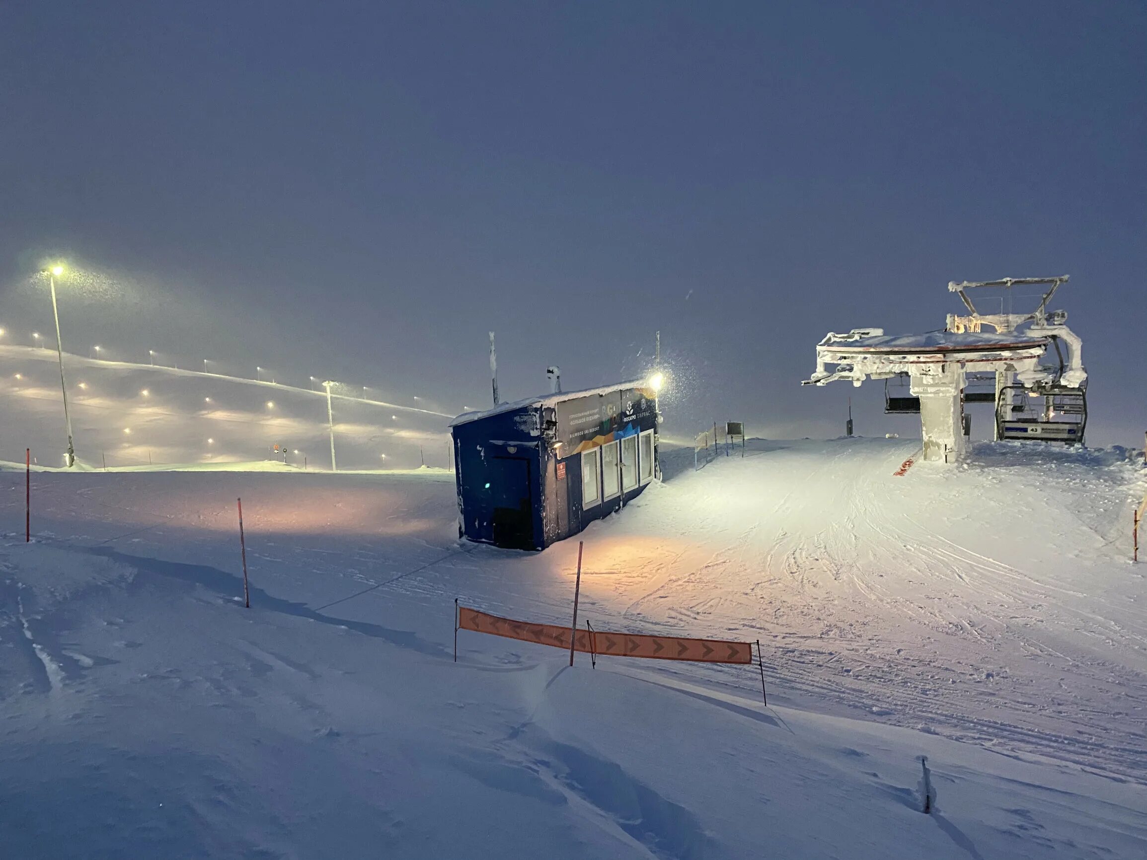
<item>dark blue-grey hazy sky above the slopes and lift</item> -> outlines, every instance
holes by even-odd
[[[0,326],[64,253],[122,284],[62,296],[76,351],[460,406],[491,328],[507,397],[661,329],[681,429],[904,432],[798,386],[825,331],[1067,272],[1092,439],[1139,444],[1145,118],[1140,2],[5,2]]]

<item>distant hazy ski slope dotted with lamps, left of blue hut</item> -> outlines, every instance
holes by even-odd
[[[420,397],[321,380],[307,386],[64,353],[77,462],[86,469],[241,464],[256,460],[330,469],[330,424],[341,470],[451,464],[442,412]],[[0,344],[0,460],[62,466],[67,431],[54,349]],[[274,451],[278,445],[280,452]]]

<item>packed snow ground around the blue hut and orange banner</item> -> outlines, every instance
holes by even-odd
[[[31,544],[0,471],[6,855],[1147,855],[1145,472],[746,453],[593,524],[580,617],[760,640],[768,706],[756,666],[455,664],[455,597],[569,621],[577,541],[459,542],[445,471],[33,472]]]

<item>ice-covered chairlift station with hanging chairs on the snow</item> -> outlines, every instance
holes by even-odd
[[[889,336],[879,328],[829,331],[817,344],[817,372],[802,384],[827,385],[848,380],[859,386],[869,377],[907,376],[911,393],[920,401],[923,459],[954,463],[965,449],[966,374],[993,373],[997,438],[1082,443],[1086,422],[1083,390],[1087,382],[1082,343],[1063,325],[1064,312],[1047,311],[1047,303],[1067,280],[1062,275],[952,282],[949,290],[959,294],[970,315],[950,314],[946,330],[923,335]],[[1050,287],[1031,313],[1001,310],[998,314],[981,314],[967,295],[969,289],[999,287],[1011,297],[1011,289],[1020,284]],[[1051,346],[1058,361],[1045,363]],[[1041,413],[1031,411],[1029,415],[1029,398],[1043,398]]]

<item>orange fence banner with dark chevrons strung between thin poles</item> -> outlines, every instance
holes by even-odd
[[[494,636],[520,639],[523,642],[570,647],[570,628],[555,624],[529,624],[513,618],[501,618],[469,607],[458,608],[459,630],[490,633]],[[638,633],[609,633],[607,631],[578,631],[574,650],[614,657],[645,657],[662,660],[692,660],[696,663],[752,663],[749,642],[728,642],[720,639],[682,639],[680,636],[649,636]]]

